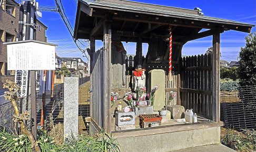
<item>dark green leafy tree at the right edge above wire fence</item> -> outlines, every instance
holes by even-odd
[[[240,85],[256,85],[256,32],[245,37],[245,47],[241,48],[239,57]]]

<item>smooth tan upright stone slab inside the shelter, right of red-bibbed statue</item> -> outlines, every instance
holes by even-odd
[[[154,69],[149,71],[149,79],[147,83],[147,91],[158,85],[158,90],[155,92],[154,111],[161,110],[165,105],[165,71],[162,69]]]

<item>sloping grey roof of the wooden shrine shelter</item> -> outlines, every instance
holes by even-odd
[[[95,12],[96,10],[96,12]],[[78,2],[77,14],[76,14],[76,21],[75,21],[75,32],[74,37],[77,39],[79,38],[77,32],[80,26],[84,28],[91,28],[93,20],[90,20],[90,17],[93,17],[94,14],[97,13],[113,13],[113,12],[123,12],[124,14],[129,13],[136,13],[141,16],[143,15],[150,15],[150,16],[157,16],[164,18],[162,22],[164,24],[178,24],[180,19],[184,21],[188,21],[188,24],[193,21],[194,25],[196,23],[204,23],[206,27],[216,28],[221,27],[224,30],[237,30],[243,32],[250,32],[251,28],[254,27],[252,24],[242,23],[240,21],[234,21],[229,19],[222,19],[210,16],[202,16],[199,15],[197,10],[192,9],[184,9],[184,8],[176,8],[176,7],[169,7],[169,6],[161,6],[161,5],[154,5],[154,4],[146,4],[146,3],[139,3],[139,2],[132,2],[132,1],[120,1],[120,0],[80,0]],[[81,14],[81,12],[83,14]],[[82,18],[83,21],[87,21],[86,23],[80,23],[81,16],[87,16],[86,18]],[[114,13],[113,13],[114,14]],[[100,16],[100,14],[97,14]],[[119,14],[117,14],[119,15]],[[122,16],[119,16],[122,18]],[[94,18],[94,17],[93,17]],[[113,16],[115,19],[115,16]],[[147,18],[149,20],[149,18]],[[160,22],[159,20],[153,19],[155,22]],[[174,20],[178,20],[175,21]],[[183,23],[184,24],[184,23]],[[90,30],[90,29],[88,29]]]

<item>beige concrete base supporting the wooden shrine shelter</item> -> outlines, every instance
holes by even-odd
[[[133,135],[133,132],[123,132],[115,134],[114,137],[117,138],[120,144],[121,152],[166,152],[196,146],[220,144],[220,127],[208,128],[206,125],[205,127],[180,132],[173,132],[173,129],[169,129],[169,127],[154,127],[150,130],[144,128],[146,130],[135,135]],[[164,133],[163,129],[169,130],[169,132]],[[130,135],[130,137],[125,137],[125,134]]]

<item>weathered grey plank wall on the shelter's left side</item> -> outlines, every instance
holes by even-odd
[[[104,99],[104,82],[103,82],[103,48],[93,52],[91,73],[91,118],[99,127],[103,127],[103,99]]]

